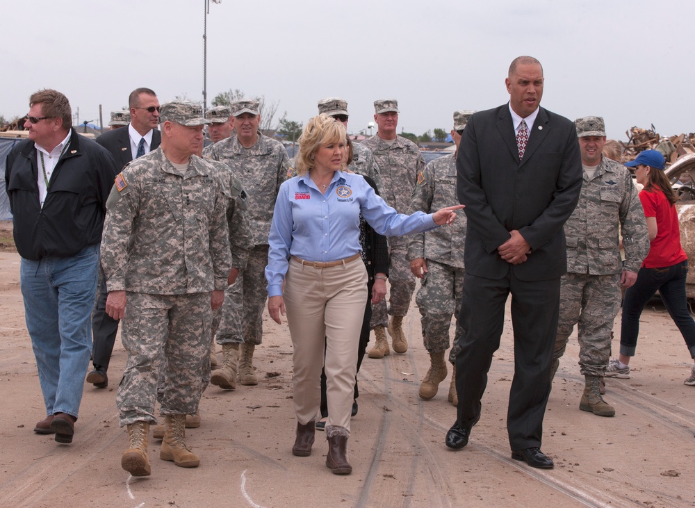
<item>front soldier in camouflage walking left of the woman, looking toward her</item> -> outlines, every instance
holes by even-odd
[[[147,432],[156,423],[162,361],[166,425],[160,458],[183,467],[199,464],[183,441],[183,426],[186,414],[198,409],[209,369],[212,309],[222,305],[231,266],[226,186],[215,167],[193,155],[207,123],[202,108],[172,101],[161,107],[160,122],[161,147],[115,179],[101,242],[106,312],[123,320],[128,353],[116,401],[130,436],[121,465],[133,476],[150,474]]]

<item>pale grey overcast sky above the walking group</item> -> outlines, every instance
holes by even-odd
[[[56,88],[79,121],[154,89],[202,101],[204,0],[5,0],[0,114]],[[654,124],[695,131],[695,2],[630,0],[222,0],[207,17],[208,107],[219,92],[278,102],[306,123],[316,101],[348,101],[354,133],[375,99],[398,99],[398,129],[449,131],[457,109],[507,101],[509,63],[531,55],[541,105],[572,120],[601,115],[609,137]]]

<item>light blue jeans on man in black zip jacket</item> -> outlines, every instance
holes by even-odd
[[[92,350],[99,244],[69,258],[22,259],[24,318],[47,414],[79,411]]]

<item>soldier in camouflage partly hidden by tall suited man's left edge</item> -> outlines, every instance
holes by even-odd
[[[456,155],[461,135],[473,111],[455,111],[451,137],[456,152],[434,159],[418,174],[413,191],[410,211],[432,213],[439,208],[456,203]],[[430,370],[420,384],[419,395],[430,400],[436,395],[439,383],[446,379],[447,368],[444,353],[449,349],[451,316],[458,321],[461,296],[464,287],[464,242],[466,240],[466,215],[457,212],[457,221],[447,229],[433,229],[427,233],[409,236],[408,259],[410,270],[422,279],[415,301],[422,315],[423,342],[430,353]],[[459,336],[457,325],[456,336]],[[454,364],[454,357],[450,356]],[[456,375],[452,371],[448,400],[456,405]]]

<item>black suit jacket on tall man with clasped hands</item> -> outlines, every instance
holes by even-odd
[[[512,114],[505,104],[475,113],[461,139],[457,195],[468,219],[466,273],[501,279],[553,279],[567,270],[563,225],[582,189],[582,160],[575,125],[540,108],[523,160]],[[510,265],[497,252],[518,230],[532,252]]]

